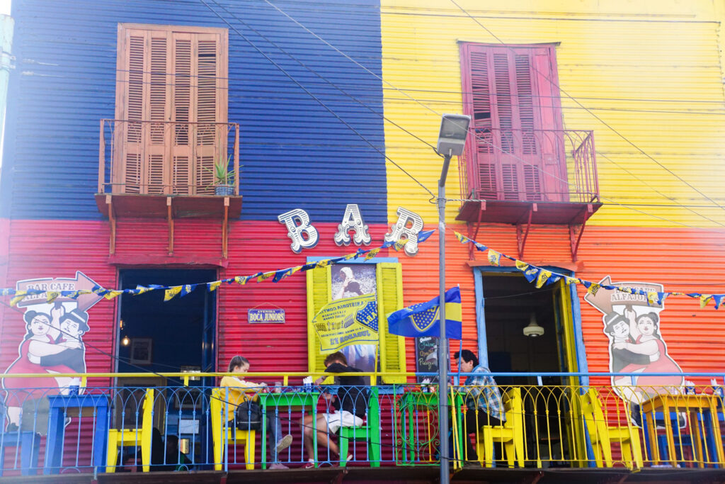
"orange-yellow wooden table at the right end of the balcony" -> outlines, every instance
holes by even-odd
[[[685,412],[689,414],[690,428],[697,428],[697,439],[693,435],[693,448],[695,450],[695,459],[699,461],[700,467],[705,465],[705,454],[703,452],[703,440],[707,438],[709,434],[710,440],[705,445],[708,445],[710,451],[710,458],[713,459],[717,456],[718,462],[725,462],[723,456],[723,443],[720,435],[720,424],[718,423],[718,397],[717,395],[676,395],[671,393],[663,393],[662,395],[656,395],[653,398],[642,403],[642,414],[647,419],[647,440],[652,443],[650,448],[653,449],[653,460],[660,462],[660,449],[657,445],[657,423],[655,420],[655,413],[661,411],[664,416],[665,431],[667,438],[667,447],[669,460],[672,467],[676,467],[677,458],[675,454],[675,440],[672,432],[672,419],[671,414],[678,414]],[[700,427],[698,422],[698,414],[702,416],[703,427]],[[693,425],[694,422],[694,425]],[[714,448],[713,448],[714,447]],[[698,459],[699,457],[699,459]]]

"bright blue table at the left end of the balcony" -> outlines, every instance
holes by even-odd
[[[99,472],[106,468],[108,440],[107,395],[49,395],[48,435],[43,474],[58,473],[62,466],[65,441],[65,417],[94,417],[93,466]]]

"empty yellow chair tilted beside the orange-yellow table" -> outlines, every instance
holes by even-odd
[[[597,467],[613,467],[612,443],[619,443],[622,449],[622,460],[627,469],[633,465],[642,467],[642,445],[639,441],[639,432],[628,422],[626,426],[610,426],[602,410],[602,402],[596,388],[589,388],[587,393],[579,395],[581,401],[581,414],[589,432],[589,441],[595,454]],[[629,420],[629,415],[627,415]]]

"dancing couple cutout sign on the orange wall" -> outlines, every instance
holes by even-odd
[[[609,276],[599,284],[663,292],[661,284],[611,282]],[[603,332],[609,339],[609,371],[635,374],[612,377],[612,386],[621,398],[639,404],[656,394],[681,393],[682,375],[657,375],[682,373],[667,352],[664,338],[667,324],[662,322],[664,302],[602,287],[594,294],[584,295],[584,300],[602,313]]]

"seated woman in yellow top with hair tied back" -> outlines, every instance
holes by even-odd
[[[229,361],[229,372],[234,374],[245,374],[249,371],[249,360],[243,356],[235,356]],[[252,383],[247,382],[244,378],[240,377],[223,377],[222,381],[219,382],[220,387],[227,388],[227,395],[229,400],[229,409],[227,414],[227,420],[230,421],[229,427],[235,428],[234,412],[237,406],[249,397],[245,389],[250,392],[256,392],[261,390],[262,387],[267,386],[265,383]],[[257,400],[257,395],[252,397],[252,401]],[[270,465],[270,469],[286,469],[287,466],[280,464],[278,460],[278,454],[284,449],[288,448],[292,443],[292,436],[287,434],[282,437],[282,425],[279,421],[279,417],[274,414],[274,411],[270,411],[267,415],[267,435],[268,443],[270,448],[270,454],[273,464]]]

